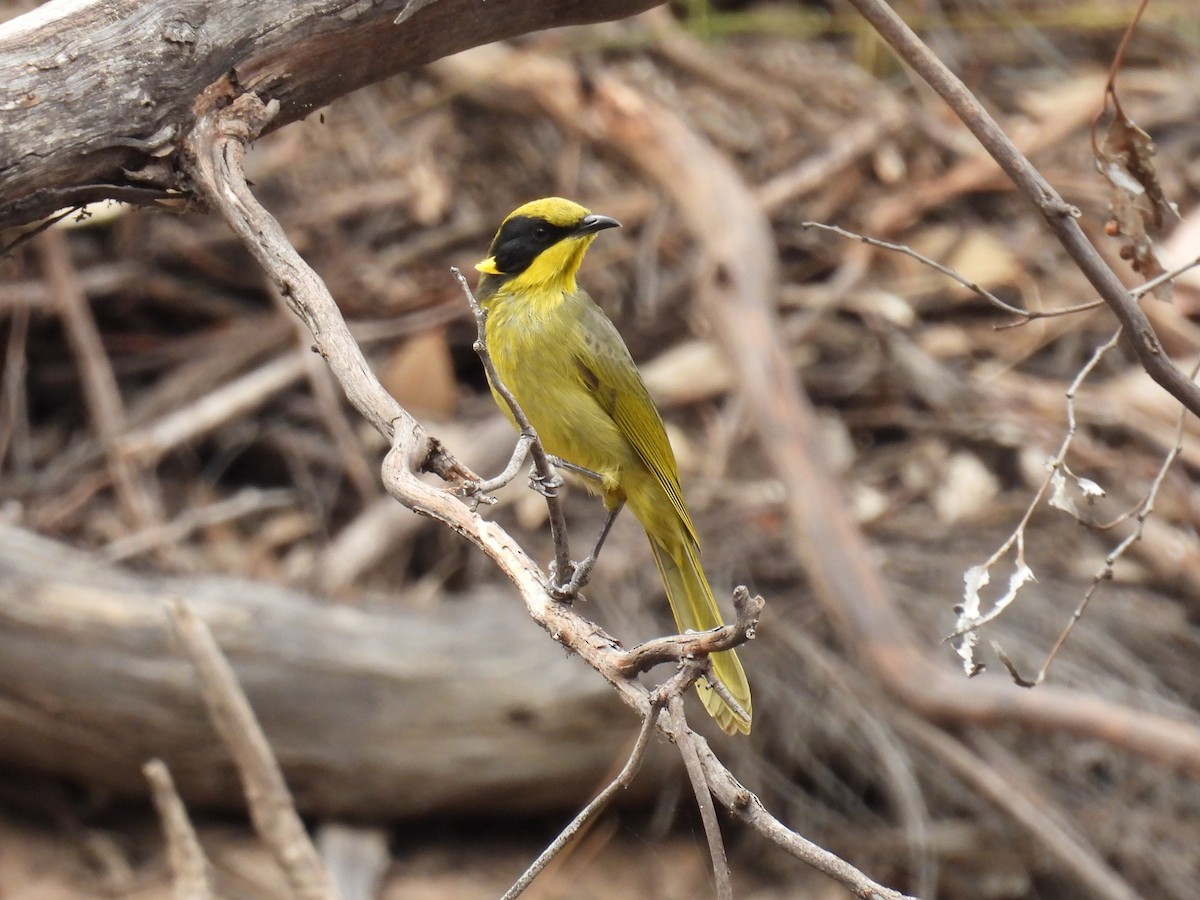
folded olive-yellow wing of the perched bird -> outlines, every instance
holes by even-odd
[[[683,499],[679,467],[662,426],[662,418],[617,326],[590,299],[584,300],[580,326],[575,332],[580,338],[575,353],[580,377],[601,409],[612,416],[637,456],[654,473],[688,534],[698,545],[700,539]]]

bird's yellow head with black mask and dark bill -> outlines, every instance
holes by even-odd
[[[596,234],[619,226],[562,197],[527,203],[500,223],[487,259],[475,265],[484,274],[479,292],[488,295],[502,284],[575,290],[575,272]]]

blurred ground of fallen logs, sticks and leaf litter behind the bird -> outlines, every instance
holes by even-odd
[[[0,18],[31,6],[0,2]],[[895,7],[1139,283],[1105,234],[1090,139],[1134,5]],[[911,256],[804,223],[901,242],[1021,310],[1092,300],[1028,202],[844,4],[688,0],[505,50],[499,66],[468,53],[359,91],[248,156],[257,196],[385,386],[475,470],[503,468],[514,436],[449,269],[469,272],[534,197],[617,217],[581,282],[664,412],[718,595],[744,583],[768,604],[743,650],[754,734],[710,733],[698,704],[694,726],[780,818],[890,887],[1195,896],[1195,761],[1176,769],[1116,728],[1086,739],[1002,709],[930,722],[851,652],[806,586],[737,366],[692,302],[704,259],[689,223],[628,157],[546,110],[539,65],[619,80],[739,173],[770,221],[779,337],[818,409],[823,458],[922,652],[960,678],[941,642],[964,572],[1020,523],[1068,433],[1067,389],[1116,323],[1104,307],[1020,323]],[[1159,235],[1163,258],[1195,258],[1193,4],[1150,5],[1117,84],[1181,214]],[[1200,348],[1192,276],[1172,304],[1144,301],[1184,370]],[[0,260],[0,895],[169,896],[138,770],[152,755],[180,778],[224,895],[287,895],[156,612],[168,594],[214,623],[318,833],[344,838],[332,826],[349,823],[349,842],[373,848],[360,865],[382,878],[374,895],[499,895],[624,761],[634,716],[481,554],[386,497],[383,439],[310,343],[212,216],[101,209]],[[1025,530],[1037,583],[985,631],[979,678],[1026,696],[989,641],[1032,676],[1094,587],[1049,682],[1195,728],[1196,422],[1144,539],[1096,587],[1138,522],[1093,526],[1138,509],[1180,440],[1178,408],[1118,343],[1074,413],[1067,464],[1105,497],[1068,486],[1058,505],[1076,515],[1037,505]],[[581,491],[568,500],[586,547],[602,509]],[[523,478],[486,515],[551,558],[545,504]],[[1009,554],[994,569],[996,595],[1012,568]],[[584,612],[626,646],[672,628],[631,516],[587,593]],[[692,805],[659,748],[528,895],[709,895]],[[726,834],[739,896],[845,895],[737,824]]]

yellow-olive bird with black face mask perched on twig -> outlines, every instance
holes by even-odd
[[[576,282],[596,235],[619,226],[562,197],[509,214],[475,265],[485,344],[496,377],[544,450],[569,473],[586,473],[576,480],[604,500],[608,518],[584,564],[594,562],[628,505],[649,539],[679,631],[704,631],[722,624],[721,613],[701,566],[700,538],[662,418],[620,332]],[[497,385],[491,388],[516,425]],[[748,734],[750,685],[737,654],[713,653],[712,672],[736,706],[701,679],[696,689],[704,708],[726,733]]]

